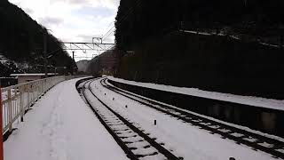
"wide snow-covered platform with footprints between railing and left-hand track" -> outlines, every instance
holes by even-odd
[[[77,80],[57,84],[14,126],[5,160],[128,159],[75,90]]]

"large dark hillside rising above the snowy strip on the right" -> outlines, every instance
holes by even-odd
[[[116,76],[283,99],[283,1],[130,1],[116,16]]]

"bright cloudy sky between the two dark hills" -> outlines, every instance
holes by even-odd
[[[51,29],[61,41],[91,42],[114,26],[120,0],[9,0],[34,20]],[[112,23],[112,24],[111,24]],[[114,34],[113,34],[114,35]],[[113,43],[114,36],[106,42]],[[76,56],[91,56],[98,52],[76,52]],[[80,59],[76,59],[80,60]]]

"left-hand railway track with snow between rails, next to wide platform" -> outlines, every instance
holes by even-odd
[[[163,147],[163,143],[158,143],[155,139],[150,138],[144,130],[136,127],[112,108],[109,108],[106,103],[99,100],[94,92],[91,91],[90,85],[92,82],[93,80],[84,82],[79,92],[95,115],[98,116],[101,124],[105,126],[106,130],[114,137],[114,140],[131,160],[183,159],[183,157],[173,155]],[[101,105],[91,105],[91,100],[98,100]]]

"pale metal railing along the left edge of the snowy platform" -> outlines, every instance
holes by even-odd
[[[12,124],[23,121],[25,112],[55,84],[75,77],[78,76],[53,76],[2,88],[2,133],[12,132]]]

